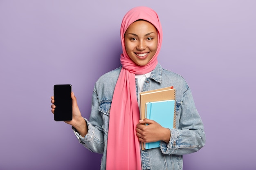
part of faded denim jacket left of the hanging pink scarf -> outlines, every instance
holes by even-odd
[[[81,137],[74,130],[76,138],[91,152],[103,154],[103,161],[106,160],[106,148],[108,139],[108,123],[110,106],[121,67],[102,75],[94,85],[92,93],[92,109],[88,124],[88,133]],[[103,167],[105,162],[103,162]]]

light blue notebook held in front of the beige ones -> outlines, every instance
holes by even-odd
[[[164,128],[173,128],[175,100],[147,102],[145,106],[146,118],[159,123]],[[146,143],[144,148],[158,148],[160,141]]]

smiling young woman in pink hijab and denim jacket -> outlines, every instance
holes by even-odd
[[[121,24],[121,44],[121,67],[96,82],[89,121],[81,116],[72,93],[73,119],[66,123],[85,148],[103,154],[102,170],[182,170],[182,155],[200,150],[205,134],[185,80],[157,62],[162,44],[157,13],[148,7],[128,11]],[[177,129],[140,120],[138,94],[168,86],[176,89]],[[54,113],[54,97],[51,102]],[[160,147],[141,150],[140,142],[153,141],[161,141]]]

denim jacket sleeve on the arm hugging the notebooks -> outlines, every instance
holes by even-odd
[[[177,129],[170,129],[171,139],[168,144],[161,141],[162,152],[184,155],[200,150],[205,144],[204,127],[189,87],[182,101],[177,101],[176,108]]]

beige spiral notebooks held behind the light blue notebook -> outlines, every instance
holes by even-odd
[[[159,88],[152,91],[145,91],[139,93],[140,96],[140,117],[145,118],[145,106],[147,102],[157,102],[163,100],[175,100],[175,88],[173,86],[166,88]],[[175,107],[176,108],[176,107]],[[176,128],[176,109],[174,109],[173,128]],[[145,150],[144,144],[141,143],[142,150]]]

